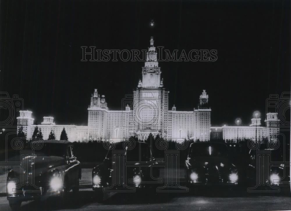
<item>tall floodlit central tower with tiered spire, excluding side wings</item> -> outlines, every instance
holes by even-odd
[[[142,68],[142,80],[134,91],[132,120],[134,133],[140,139],[146,139],[150,133],[165,137],[168,122],[168,91],[163,88],[161,70],[157,61],[154,38],[150,38],[150,47]]]

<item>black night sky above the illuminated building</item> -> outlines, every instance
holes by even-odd
[[[93,89],[120,110],[144,64],[81,62],[80,46],[146,49],[152,35],[169,50],[218,51],[216,62],[159,62],[170,109],[193,110],[206,89],[212,125],[249,124],[254,110],[265,119],[269,94],[290,92],[290,2],[282,0],[1,1],[0,91],[19,94],[38,123],[53,115],[86,125]]]

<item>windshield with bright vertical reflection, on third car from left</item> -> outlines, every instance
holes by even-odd
[[[194,144],[189,151],[190,157],[228,157],[227,147],[224,145]]]

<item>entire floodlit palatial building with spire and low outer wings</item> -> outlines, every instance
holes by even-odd
[[[105,96],[94,89],[88,106],[87,126],[57,125],[54,123],[54,117],[43,117],[40,125],[34,125],[31,111],[20,111],[17,125],[23,126],[27,138],[32,137],[36,126],[41,129],[44,139],[49,137],[51,131],[58,139],[65,128],[70,141],[109,138],[122,140],[130,136],[145,140],[150,133],[168,140],[209,141],[232,140],[237,137],[236,126],[211,127],[211,109],[206,90],[203,90],[199,100],[197,99],[198,104],[193,110],[179,111],[175,105],[169,109],[169,91],[164,87],[161,78],[162,71],[157,61],[153,37],[150,38],[150,47],[141,74],[142,77],[133,94],[122,99],[123,106],[120,110],[110,110]],[[271,136],[278,132],[279,120],[275,113],[267,114],[267,127],[261,127],[257,121],[259,120],[252,119],[251,126],[239,127],[239,137],[253,137],[255,128],[258,137]]]

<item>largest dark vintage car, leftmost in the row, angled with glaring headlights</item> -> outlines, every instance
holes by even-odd
[[[22,201],[59,196],[66,201],[68,192],[79,192],[80,162],[69,141],[43,140],[37,150],[33,142],[21,154],[21,166],[7,175],[7,199],[12,210]]]

